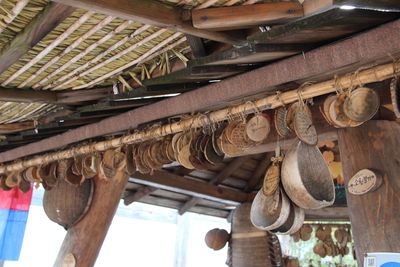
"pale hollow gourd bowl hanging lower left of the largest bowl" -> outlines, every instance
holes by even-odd
[[[279,204],[277,209],[271,211],[270,206],[274,195],[266,196],[262,190],[258,191],[250,210],[252,224],[261,230],[271,230],[285,223],[290,213],[290,201],[283,190],[278,191]]]

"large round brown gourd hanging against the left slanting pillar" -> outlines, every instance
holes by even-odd
[[[93,179],[86,179],[80,186],[58,179],[52,190],[46,190],[44,193],[44,211],[50,220],[68,229],[86,214],[92,202],[93,192]]]

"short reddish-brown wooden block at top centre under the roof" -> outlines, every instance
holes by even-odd
[[[287,23],[303,16],[298,2],[193,9],[193,26],[213,31],[245,29],[258,25]]]

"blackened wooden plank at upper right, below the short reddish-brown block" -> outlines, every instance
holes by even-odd
[[[372,28],[399,17],[396,12],[365,9],[330,9],[294,22],[260,32],[247,39],[254,43],[318,43],[327,42]]]

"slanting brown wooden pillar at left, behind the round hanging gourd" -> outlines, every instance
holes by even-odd
[[[128,175],[124,171],[118,172],[107,182],[95,177],[91,207],[81,221],[68,229],[54,264],[55,267],[64,266],[65,257],[71,253],[76,260],[76,265],[72,266],[94,266],[127,181]]]

